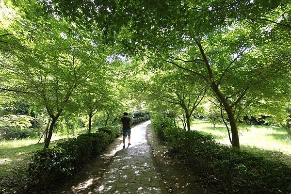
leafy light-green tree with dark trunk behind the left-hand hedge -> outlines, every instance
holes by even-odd
[[[33,4],[32,8],[39,9],[38,4]],[[66,33],[71,26],[65,21],[53,16],[40,16],[37,20],[35,16],[29,16],[22,18],[28,19],[22,23],[27,34],[19,36],[25,49],[1,52],[0,65],[4,69],[1,77],[5,76],[10,81],[4,82],[0,89],[32,97],[35,104],[46,107],[51,118],[45,144],[49,147],[53,127],[67,108],[70,97],[91,77],[98,77],[106,57],[101,44],[97,47],[92,39],[84,38],[85,35],[80,39],[76,35],[88,31],[75,28],[78,31],[72,35]]]

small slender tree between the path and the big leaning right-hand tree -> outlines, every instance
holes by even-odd
[[[206,94],[206,86],[199,80],[189,80],[181,70],[156,72],[148,81],[150,100],[158,103],[177,104],[186,118],[187,129],[191,130],[191,116]],[[183,121],[183,119],[182,119]]]

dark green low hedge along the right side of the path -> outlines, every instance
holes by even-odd
[[[282,162],[219,144],[211,135],[179,129],[167,119],[155,119],[152,125],[170,153],[187,162],[217,193],[291,193],[291,168]]]

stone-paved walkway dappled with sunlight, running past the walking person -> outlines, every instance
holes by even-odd
[[[100,194],[165,194],[146,140],[146,121],[131,129],[131,145],[116,152],[103,181],[95,192]]]

